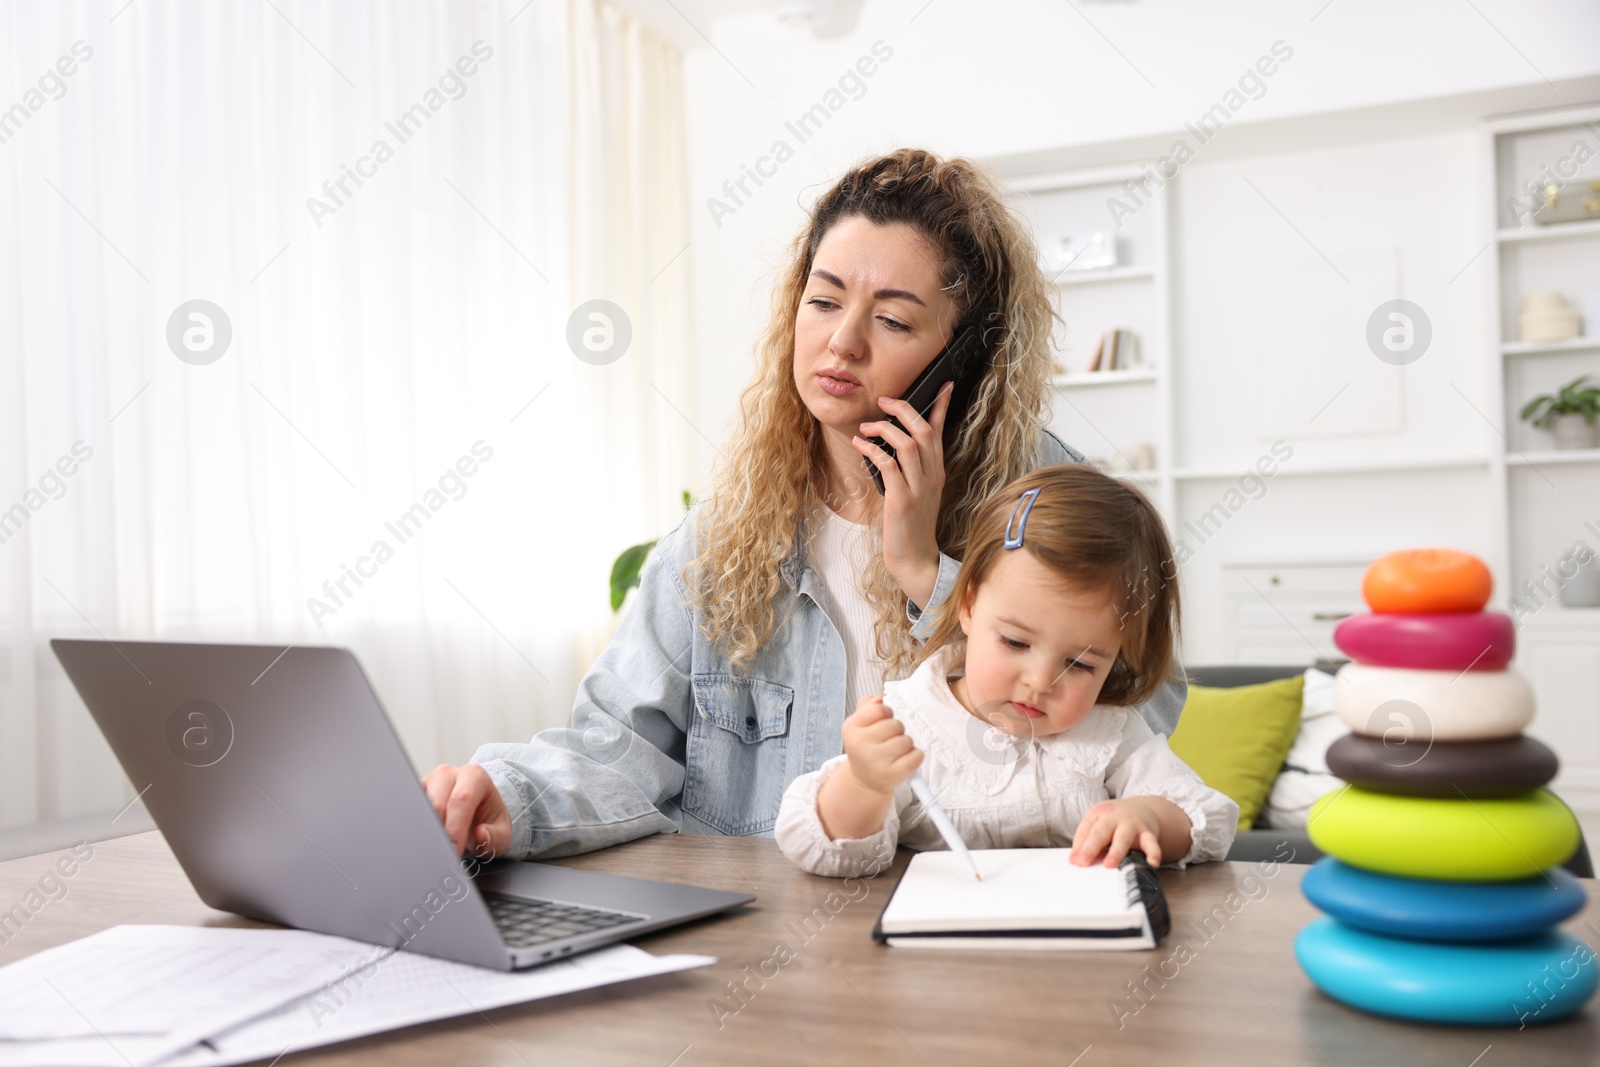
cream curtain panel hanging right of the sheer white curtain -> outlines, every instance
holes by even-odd
[[[606,430],[579,442],[595,490],[587,515],[602,530],[637,533],[606,544],[614,557],[677,526],[683,490],[698,488],[698,430],[685,414],[694,408],[694,381],[683,58],[614,8],[570,0],[570,13],[573,302],[614,304],[632,330],[622,358],[589,365],[574,381],[606,413]],[[605,326],[590,320],[590,328]],[[614,621],[584,635],[584,662]]]

